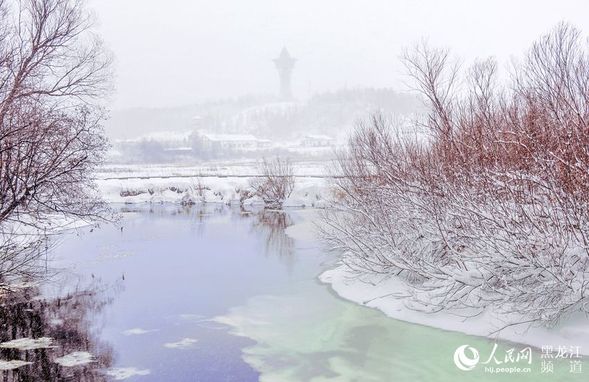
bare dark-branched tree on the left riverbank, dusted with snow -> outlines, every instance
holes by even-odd
[[[92,170],[106,147],[101,99],[110,58],[90,26],[78,0],[0,1],[4,244],[17,245],[11,235],[22,226],[45,230],[49,215],[92,219],[106,211]]]

